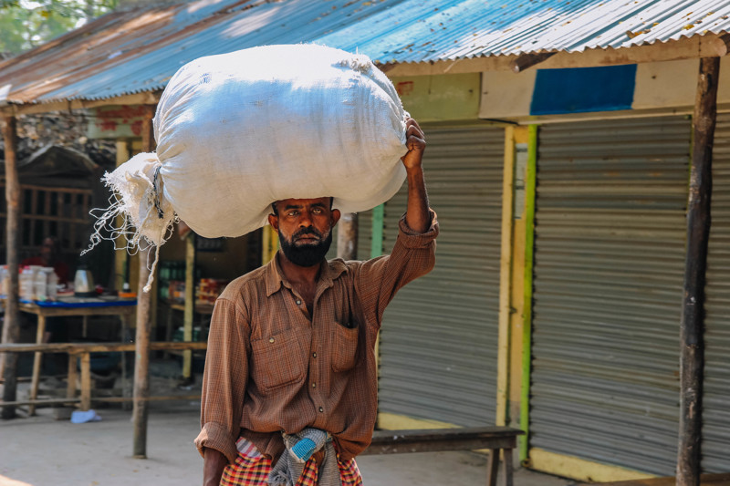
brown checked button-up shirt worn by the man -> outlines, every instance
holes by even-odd
[[[237,456],[239,435],[277,457],[281,431],[328,430],[343,460],[372,439],[378,406],[375,339],[385,306],[435,262],[438,222],[414,233],[401,218],[390,255],[323,262],[312,315],[273,259],[215,303],[195,445]]]

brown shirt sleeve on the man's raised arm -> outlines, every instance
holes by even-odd
[[[431,272],[436,263],[439,223],[432,209],[429,209],[429,216],[429,228],[424,233],[417,233],[408,226],[403,215],[391,254],[373,258],[360,265],[357,276],[360,299],[365,308],[374,306],[378,326],[385,307],[398,289]]]

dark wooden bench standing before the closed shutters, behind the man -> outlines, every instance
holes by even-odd
[[[486,465],[487,486],[496,485],[500,451],[503,452],[502,484],[513,486],[513,451],[522,430],[508,427],[470,427],[464,429],[376,430],[368,449],[360,455],[436,452],[442,450],[489,450]]]

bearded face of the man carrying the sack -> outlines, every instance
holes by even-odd
[[[299,266],[319,264],[332,243],[332,228],[339,210],[330,209],[330,198],[285,199],[276,202],[268,221],[279,233],[281,251]]]

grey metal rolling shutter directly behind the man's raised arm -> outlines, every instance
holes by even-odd
[[[504,129],[424,131],[426,185],[441,224],[436,267],[386,309],[380,410],[494,423]],[[404,185],[385,206],[386,252],[405,208]]]

